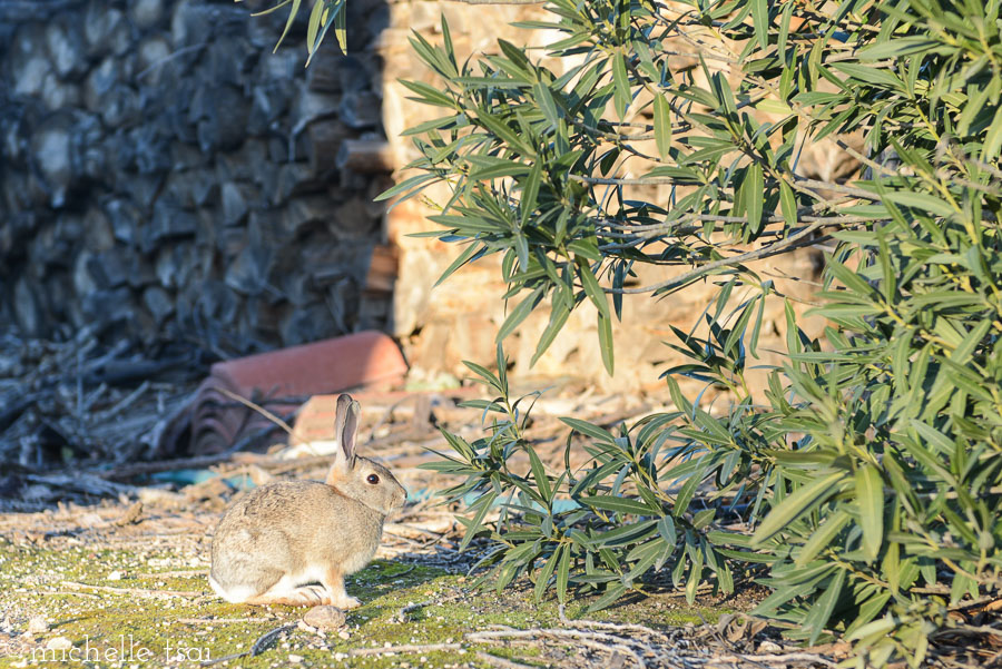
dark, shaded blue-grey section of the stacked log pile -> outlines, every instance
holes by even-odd
[[[306,70],[308,12],[273,55],[265,6],[0,0],[0,323],[220,356],[386,326],[385,10]]]

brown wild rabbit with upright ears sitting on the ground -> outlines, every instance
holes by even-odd
[[[403,508],[406,491],[390,470],[355,455],[360,411],[351,395],[337,397],[341,447],[323,483],[269,483],[226,511],[213,537],[216,594],[232,603],[361,606],[344,577],[372,560],[383,521]]]

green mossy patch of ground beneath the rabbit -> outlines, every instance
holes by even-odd
[[[11,627],[8,657],[0,668],[33,667],[166,667],[197,666],[250,648],[268,630],[295,623],[306,609],[255,608],[215,598],[202,558],[169,548],[99,549],[86,545],[49,549],[14,545],[0,539],[0,610]],[[190,573],[187,573],[190,572]],[[81,588],[78,584],[99,588]],[[110,590],[111,588],[119,590]],[[285,667],[488,667],[465,652],[346,657],[352,649],[461,641],[465,632],[490,626],[517,629],[558,623],[557,604],[536,604],[531,590],[510,587],[500,596],[472,590],[461,573],[420,561],[377,560],[350,579],[348,592],[363,606],[347,614],[347,638],[293,628],[257,657],[223,666]],[[405,621],[397,616],[409,604],[424,603]],[[574,617],[587,602],[568,607]],[[720,608],[686,608],[677,600],[637,598],[592,616],[595,619],[642,622],[651,627],[713,621]],[[46,618],[49,631],[24,634],[28,621]],[[2,621],[2,620],[0,620]],[[76,656],[39,649],[55,637],[66,637],[79,649]],[[0,637],[2,638],[2,637]],[[80,661],[86,649],[91,661]],[[121,649],[131,656],[121,661]],[[3,648],[0,647],[0,650]],[[110,651],[109,656],[109,649]],[[140,650],[146,653],[140,655]],[[500,657],[518,657],[530,666],[547,666],[533,649],[490,647]],[[32,656],[31,653],[36,655]],[[100,661],[92,661],[95,655]],[[3,653],[0,653],[3,655]],[[108,661],[114,658],[112,661]]]

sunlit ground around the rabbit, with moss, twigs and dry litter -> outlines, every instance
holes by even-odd
[[[554,458],[567,430],[553,416],[581,413],[570,404],[538,407],[532,430],[541,444],[552,443]],[[394,470],[413,501],[386,523],[376,559],[348,580],[362,607],[343,627],[311,627],[305,608],[229,604],[213,594],[213,531],[239,489],[322,479],[326,466],[324,458],[236,454],[207,469],[134,479],[120,484],[118,499],[77,495],[43,511],[0,514],[0,668],[834,667],[844,657],[843,647],[785,646],[776,630],[744,618],[762,597],[754,587],[726,599],[706,592],[691,607],[652,587],[588,619],[587,598],[562,611],[552,600],[534,603],[522,582],[500,593],[474,589],[468,571],[483,547],[458,552],[460,525],[431,495],[445,481],[416,469],[444,441],[432,432],[386,439],[403,434],[396,425],[412,425],[399,406],[400,415],[369,412],[361,434],[382,444],[369,454]],[[589,406],[584,417],[606,423],[651,410],[622,397]],[[450,411],[439,412],[440,424],[478,436],[479,412]],[[51,474],[45,484],[61,480]]]

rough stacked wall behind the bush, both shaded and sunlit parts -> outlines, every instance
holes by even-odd
[[[401,132],[439,114],[399,82],[435,82],[411,31],[441,39],[444,13],[461,55],[495,51],[499,37],[540,47],[551,36],[510,23],[542,10],[348,0],[350,56],[328,40],[304,69],[307,12],[273,55],[285,12],[248,17],[264,6],[0,0],[0,324],[39,336],[85,325],[166,335],[220,355],[376,327],[401,342],[418,377],[492,360],[504,318],[497,265],[432,289],[459,248],[407,236],[433,227],[416,200],[384,218],[372,199],[413,157]],[[811,150],[805,166],[843,168],[832,147]],[[816,257],[758,268],[806,297],[779,277],[811,277]],[[640,281],[670,272],[645,268]],[[522,377],[664,387],[669,325],[688,328],[714,292],[625,299],[612,380],[590,305],[534,368],[547,314],[507,350]],[[763,348],[782,350],[782,305],[767,323]]]

